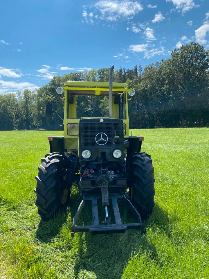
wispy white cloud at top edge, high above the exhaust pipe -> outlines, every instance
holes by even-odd
[[[88,14],[86,5],[85,10],[82,13],[86,22],[89,22],[89,15],[91,17],[92,12]],[[93,7],[94,12],[98,12],[97,18],[106,21],[118,21],[122,19],[132,19],[138,12],[143,10],[143,7],[138,1],[129,0],[100,0],[97,1]]]

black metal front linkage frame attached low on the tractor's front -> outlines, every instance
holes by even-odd
[[[145,223],[142,223],[140,214],[134,207],[134,205],[131,203],[131,201],[126,198],[124,193],[121,193],[121,195],[110,195],[109,199],[112,201],[113,206],[113,213],[115,217],[115,224],[110,224],[110,219],[107,216],[105,221],[102,221],[102,224],[99,224],[99,215],[98,215],[98,200],[101,200],[102,196],[83,196],[83,200],[81,201],[77,212],[75,213],[75,216],[73,218],[73,223],[71,226],[71,237],[74,238],[75,232],[90,232],[92,235],[96,234],[109,234],[109,233],[120,233],[125,232],[125,230],[133,230],[133,229],[140,229],[142,234],[146,233]],[[124,199],[125,202],[129,205],[130,210],[134,217],[137,219],[138,223],[127,223],[122,224],[121,218],[120,218],[120,211],[118,208],[118,199]],[[91,201],[91,207],[92,207],[92,225],[91,226],[75,226],[78,217],[82,211],[82,208],[85,205],[85,201]]]

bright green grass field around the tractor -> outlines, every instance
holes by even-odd
[[[69,207],[43,221],[34,205],[37,165],[49,152],[47,135],[62,132],[1,131],[0,278],[208,279],[209,129],[134,130],[144,135],[156,179],[154,212],[147,233],[77,233]],[[121,205],[123,221],[133,218]],[[80,222],[89,222],[87,208]]]

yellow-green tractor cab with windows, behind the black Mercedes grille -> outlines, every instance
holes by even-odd
[[[65,113],[64,136],[77,136],[80,119],[108,118],[109,83],[67,81],[64,83]],[[126,83],[113,83],[112,117],[122,119],[124,136],[129,136],[128,101],[135,91],[127,88]],[[129,96],[129,98],[128,98]],[[90,101],[89,110],[82,110],[82,104]],[[101,109],[101,101],[105,101],[106,108]]]

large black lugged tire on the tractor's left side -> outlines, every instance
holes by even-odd
[[[49,219],[69,200],[70,188],[67,184],[67,157],[59,152],[47,154],[38,166],[35,204],[38,214]]]

